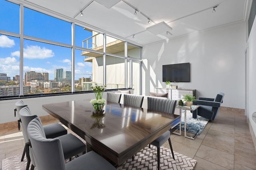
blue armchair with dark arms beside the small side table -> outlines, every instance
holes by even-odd
[[[198,100],[194,101],[194,105],[199,105],[198,109],[192,111],[193,118],[197,115],[205,117],[210,120],[214,120],[220,109],[220,105],[223,102],[224,93],[218,93],[215,98],[203,98],[199,97]]]

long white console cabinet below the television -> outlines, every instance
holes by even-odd
[[[185,94],[192,94],[196,97],[195,89],[170,89],[170,88],[155,88],[155,93],[168,93],[168,99],[181,100]]]

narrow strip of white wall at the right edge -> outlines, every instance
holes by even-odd
[[[252,113],[256,111],[256,18],[250,32],[248,39],[248,119],[252,125],[254,135],[256,136],[256,123],[252,120]]]

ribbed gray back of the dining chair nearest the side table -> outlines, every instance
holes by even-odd
[[[174,114],[176,102],[176,100],[148,97],[148,109]]]

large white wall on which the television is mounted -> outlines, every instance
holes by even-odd
[[[142,94],[166,87],[162,65],[190,63],[190,82],[173,85],[196,89],[197,98],[223,92],[222,106],[245,109],[245,47],[245,22],[145,45]]]

